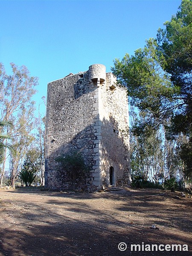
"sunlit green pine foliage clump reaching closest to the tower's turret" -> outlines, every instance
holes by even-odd
[[[177,88],[172,87],[169,74],[163,71],[163,55],[157,50],[157,42],[150,38],[143,49],[137,49],[131,57],[126,54],[122,61],[114,61],[113,73],[120,84],[127,88],[131,97],[131,105],[145,111],[148,119],[170,115],[164,109],[169,104],[169,99],[177,93]]]

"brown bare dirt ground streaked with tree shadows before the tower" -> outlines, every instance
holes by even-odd
[[[192,198],[179,192],[0,189],[0,256],[189,256],[191,218]],[[125,251],[118,249],[121,242]],[[187,244],[188,251],[142,250],[146,244]]]

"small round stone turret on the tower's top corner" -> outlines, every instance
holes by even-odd
[[[102,64],[93,64],[89,67],[89,81],[100,81],[102,84],[106,78],[106,68]]]

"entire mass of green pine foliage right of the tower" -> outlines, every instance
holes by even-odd
[[[144,135],[146,127],[155,130],[163,127],[165,140],[171,140],[173,145],[184,135],[186,142],[177,145],[180,149],[177,157],[184,163],[186,176],[191,177],[192,0],[182,0],[179,9],[164,23],[165,29],[158,30],[157,39],[150,38],[143,49],[137,49],[132,56],[126,54],[122,61],[116,59],[112,71],[119,84],[127,88],[131,105],[144,116],[133,126],[137,148],[144,145],[139,146],[143,141],[139,141],[138,135]],[[136,169],[138,166],[137,162]]]

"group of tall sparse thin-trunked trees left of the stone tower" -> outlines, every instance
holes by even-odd
[[[41,169],[41,184],[44,184],[44,123],[40,111],[36,117],[32,98],[37,92],[38,78],[31,76],[26,66],[18,67],[11,63],[11,67],[12,74],[8,75],[0,63],[0,186],[8,161],[11,185],[15,186],[23,161],[32,149],[38,154],[37,158],[41,157],[41,166],[39,164],[36,172],[40,176]],[[7,154],[6,149],[11,149],[9,138],[14,151]]]

